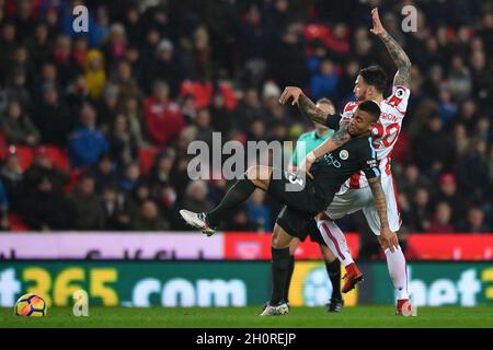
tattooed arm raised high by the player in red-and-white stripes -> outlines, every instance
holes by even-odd
[[[387,50],[393,59],[393,62],[398,67],[398,72],[393,78],[393,85],[410,88],[411,60],[395,39],[391,37],[390,34],[383,28],[383,25],[380,22],[380,16],[378,15],[378,8],[371,10],[371,19],[374,21],[374,27],[370,32],[378,35],[378,37],[383,42]]]

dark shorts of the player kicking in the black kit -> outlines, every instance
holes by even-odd
[[[305,241],[309,231],[317,229],[313,218],[325,209],[325,203],[316,196],[311,178],[284,171],[275,172],[267,192],[285,205],[277,215],[276,223],[289,235]],[[313,238],[317,238],[314,242],[323,243],[319,230],[316,231],[318,234],[313,233]]]

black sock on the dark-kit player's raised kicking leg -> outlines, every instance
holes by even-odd
[[[248,178],[237,180],[228,190],[220,203],[206,214],[206,221],[211,228],[217,228],[220,220],[237,206],[244,202],[255,190],[255,185]]]

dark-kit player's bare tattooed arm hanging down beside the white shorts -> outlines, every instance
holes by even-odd
[[[387,218],[387,200],[380,183],[380,176],[368,178],[368,185],[374,195],[375,208],[377,208],[378,217],[380,219],[380,242],[383,248],[389,248],[394,252],[399,246],[397,234],[390,231],[389,220]]]

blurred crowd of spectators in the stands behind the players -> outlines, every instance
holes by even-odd
[[[380,5],[412,61],[392,155],[402,230],[493,231],[493,2],[380,2],[0,0],[1,230],[186,230],[177,210],[228,187],[188,179],[191,141],[296,140],[312,126],[278,104],[287,85],[341,110],[378,63],[390,89],[369,33]],[[416,32],[401,31],[405,4]],[[255,192],[223,228],[271,231],[278,209]]]

